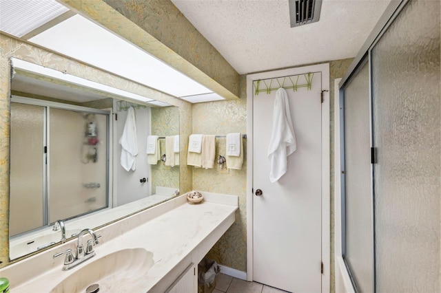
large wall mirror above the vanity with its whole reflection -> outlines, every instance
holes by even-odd
[[[23,62],[12,58],[11,260],[178,195],[177,107]]]

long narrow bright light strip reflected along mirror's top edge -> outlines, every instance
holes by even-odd
[[[90,87],[92,89],[98,89],[100,91],[104,91],[110,94],[115,94],[117,96],[125,97],[125,98],[131,98],[133,100],[139,100],[141,102],[150,102],[153,101],[151,98],[146,98],[144,96],[140,96],[138,94],[133,94],[129,91],[123,91],[122,89],[116,89],[115,87],[110,87],[108,85],[103,85],[101,83],[96,83],[92,80],[87,80],[85,78],[81,78],[78,76],[73,76],[70,74],[65,74],[63,72],[59,72],[57,70],[43,67],[41,65],[37,65],[34,63],[30,63],[28,61],[23,61],[17,58],[11,58],[12,60],[12,66],[14,69],[21,69],[27,72],[34,72],[41,74],[43,76],[48,76],[51,78],[56,78],[59,80],[65,80],[69,83],[74,83],[75,85],[81,85],[83,87]]]

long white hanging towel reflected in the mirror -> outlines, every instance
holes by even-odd
[[[138,142],[136,140],[135,110],[130,107],[127,111],[123,135],[119,139],[121,149],[121,166],[125,171],[136,170],[136,155],[138,155]]]

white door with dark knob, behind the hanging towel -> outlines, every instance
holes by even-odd
[[[322,285],[321,90],[320,72],[311,89],[287,89],[297,150],[274,183],[267,149],[276,91],[253,97],[253,279],[289,292],[320,292]]]

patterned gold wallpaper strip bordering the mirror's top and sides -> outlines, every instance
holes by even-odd
[[[88,80],[103,83],[112,87],[118,87],[141,96],[148,96],[156,100],[167,102],[170,105],[178,106],[179,116],[192,117],[192,106],[188,102],[179,100],[167,94],[155,91],[130,80],[114,76],[99,69],[90,67],[72,59],[48,52],[28,43],[23,43],[4,34],[0,34],[0,267],[8,264],[9,237],[8,237],[8,206],[9,206],[9,121],[10,121],[10,57],[20,58],[25,61],[50,67],[68,74],[86,78]],[[170,109],[173,109],[170,107]],[[176,109],[176,108],[174,108]],[[176,115],[174,115],[176,117]],[[189,135],[191,131],[191,120],[180,121],[181,135]],[[175,129],[177,131],[177,129]],[[187,150],[187,141],[181,140],[181,148]],[[185,156],[182,156],[185,157]],[[192,169],[185,166],[182,161],[180,170],[181,191],[190,191],[192,185]],[[176,169],[177,170],[177,169]]]

